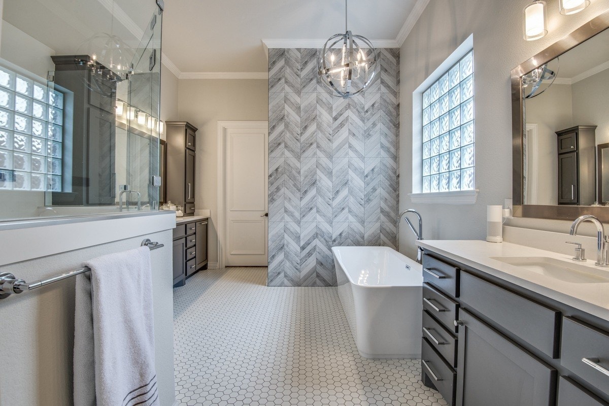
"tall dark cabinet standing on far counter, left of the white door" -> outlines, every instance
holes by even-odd
[[[195,210],[195,147],[197,127],[186,121],[165,122],[167,141],[166,200],[184,206],[184,215]]]

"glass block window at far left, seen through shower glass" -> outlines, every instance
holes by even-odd
[[[63,94],[0,66],[0,190],[62,191]]]

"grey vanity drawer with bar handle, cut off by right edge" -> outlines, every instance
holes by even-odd
[[[609,395],[609,333],[571,317],[563,318],[560,363]]]

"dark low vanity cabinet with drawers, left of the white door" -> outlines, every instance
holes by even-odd
[[[174,228],[174,287],[207,269],[208,219],[178,224]]]

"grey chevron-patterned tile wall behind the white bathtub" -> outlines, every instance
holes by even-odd
[[[336,285],[331,248],[395,248],[400,55],[342,99],[317,79],[319,49],[269,49],[271,286]]]

